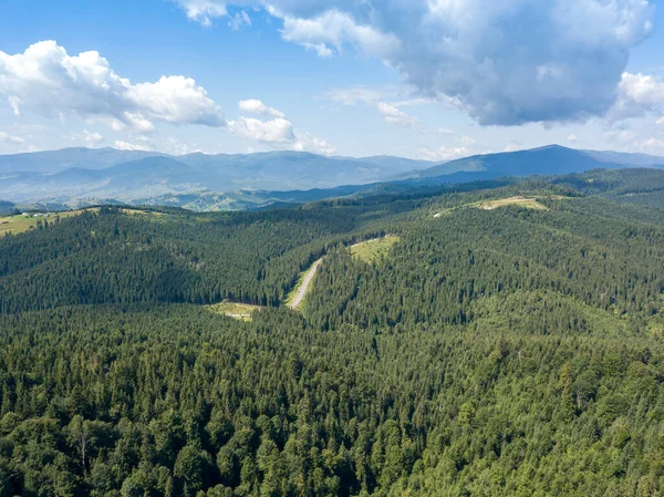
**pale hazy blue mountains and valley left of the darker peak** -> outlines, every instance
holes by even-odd
[[[308,190],[387,180],[432,163],[398,157],[324,157],[300,152],[163,154],[68,148],[0,156],[0,197],[71,207],[108,200],[154,204],[165,195]]]

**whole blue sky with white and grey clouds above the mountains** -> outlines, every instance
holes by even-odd
[[[664,156],[664,0],[0,0],[0,154]]]

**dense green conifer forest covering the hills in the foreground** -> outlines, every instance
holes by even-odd
[[[663,175],[7,235],[0,496],[662,495]]]

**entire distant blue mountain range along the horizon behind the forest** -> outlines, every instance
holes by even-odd
[[[326,157],[302,152],[169,156],[65,148],[0,156],[0,200],[28,206],[124,203],[195,210],[245,209],[367,189],[625,167],[664,168],[664,157],[558,145],[446,163],[390,156]]]

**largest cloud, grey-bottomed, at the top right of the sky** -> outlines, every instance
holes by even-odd
[[[189,18],[220,2],[178,0]],[[630,50],[653,31],[652,0],[228,0],[262,7],[284,40],[321,56],[354,48],[398,71],[423,97],[485,125],[604,115]],[[193,9],[191,4],[198,4]],[[204,22],[205,23],[205,22]]]

